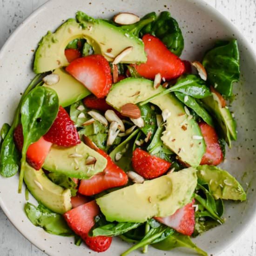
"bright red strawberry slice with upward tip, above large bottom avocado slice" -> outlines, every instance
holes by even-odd
[[[88,180],[81,180],[78,192],[82,195],[95,195],[106,189],[124,186],[128,182],[126,173],[119,168],[103,150],[97,152],[103,155],[108,164],[105,170]]]

